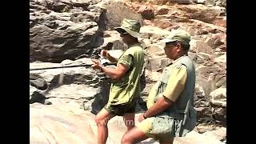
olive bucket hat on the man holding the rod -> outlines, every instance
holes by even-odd
[[[121,26],[115,28],[115,30],[117,30],[118,33],[122,33],[123,30],[126,30],[128,34],[134,38],[138,38],[141,37],[141,34],[139,34],[140,28],[141,24],[138,22],[138,20],[124,18],[122,20]]]

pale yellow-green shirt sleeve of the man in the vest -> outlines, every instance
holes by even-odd
[[[186,77],[186,66],[174,67],[168,79],[166,90],[162,94],[175,102],[185,88]]]

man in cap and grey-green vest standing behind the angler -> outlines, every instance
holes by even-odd
[[[122,144],[140,142],[146,138],[159,140],[161,144],[174,142],[174,137],[183,137],[194,129],[195,70],[187,56],[190,34],[174,30],[163,40],[167,58],[173,59],[162,72],[162,78],[150,91],[148,110],[138,118],[138,126],[126,132]]]

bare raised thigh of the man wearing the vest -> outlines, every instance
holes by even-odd
[[[122,144],[134,144],[146,138],[148,138],[146,134],[144,134],[142,130],[139,130],[137,126],[134,126],[134,128],[127,131],[126,134],[122,136]]]

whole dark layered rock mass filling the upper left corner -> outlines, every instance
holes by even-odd
[[[87,57],[102,37],[103,10],[88,1],[30,1],[30,62]]]

